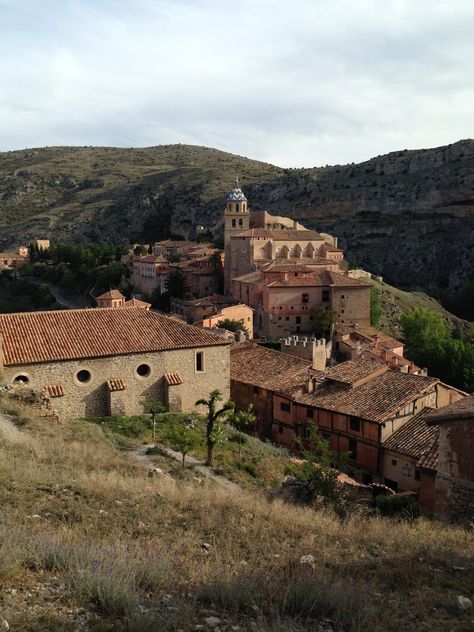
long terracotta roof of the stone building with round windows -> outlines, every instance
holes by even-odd
[[[141,308],[0,314],[6,366],[229,344]]]

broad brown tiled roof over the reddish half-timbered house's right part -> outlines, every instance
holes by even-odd
[[[354,388],[347,388],[337,382],[323,383],[313,393],[298,396],[296,401],[306,406],[382,423],[417,397],[432,390],[438,382],[434,377],[401,373],[389,368],[382,375]]]

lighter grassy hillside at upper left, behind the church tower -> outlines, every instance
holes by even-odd
[[[236,175],[247,183],[276,177],[282,169],[206,147],[50,147],[0,153],[0,226],[37,214],[104,208],[161,186],[201,202],[222,200]],[[202,195],[201,195],[202,191]],[[138,194],[138,193],[137,193]],[[176,201],[178,202],[178,200]],[[124,237],[127,237],[126,235]]]

